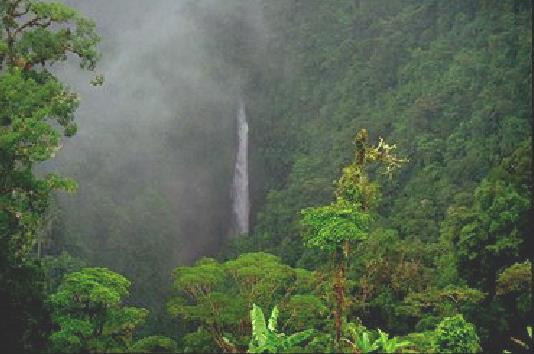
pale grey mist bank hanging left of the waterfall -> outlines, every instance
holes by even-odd
[[[79,187],[57,195],[48,252],[66,250],[121,272],[133,281],[134,302],[161,304],[174,267],[215,254],[231,236],[246,72],[233,60],[239,53],[210,55],[216,42],[192,14],[202,7],[210,25],[223,27],[245,21],[247,38],[251,28],[260,38],[258,4],[240,4],[242,16],[223,1],[65,3],[96,21],[103,56],[94,72],[74,60],[53,67],[81,104],[78,133],[45,169]],[[91,86],[100,73],[104,85]],[[137,264],[141,257],[150,269]]]

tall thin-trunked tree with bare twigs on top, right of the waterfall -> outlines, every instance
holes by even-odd
[[[332,253],[333,291],[336,302],[334,319],[338,344],[345,308],[346,260],[351,242],[362,241],[367,237],[372,220],[370,209],[376,205],[378,197],[378,186],[376,182],[369,180],[367,164],[382,163],[385,166],[383,172],[391,176],[393,170],[406,162],[405,159],[392,154],[395,146],[386,144],[382,139],[376,146],[370,146],[367,139],[366,129],[356,134],[354,160],[343,168],[336,185],[335,202],[302,211],[306,244]]]

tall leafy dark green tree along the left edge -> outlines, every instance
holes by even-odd
[[[75,188],[55,174],[33,172],[60,149],[58,128],[66,136],[76,132],[78,95],[49,68],[73,54],[93,69],[98,41],[95,24],[68,6],[0,1],[0,341],[19,351],[42,350],[35,317],[45,312],[43,284],[32,250],[49,195]]]

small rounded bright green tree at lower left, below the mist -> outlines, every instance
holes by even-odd
[[[52,351],[109,352],[126,350],[132,332],[148,311],[123,307],[130,282],[105,268],[84,268],[65,276],[58,291],[50,296],[53,321]]]

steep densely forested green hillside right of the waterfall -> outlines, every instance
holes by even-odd
[[[408,335],[463,313],[486,350],[517,348],[510,338],[525,338],[532,316],[521,280],[531,272],[508,270],[527,259],[532,215],[531,10],[527,1],[265,2],[265,49],[242,59],[258,212],[229,254],[260,249],[329,269],[304,247],[299,211],[317,210],[307,224],[343,220],[321,206],[365,127],[409,162],[391,180],[369,170],[380,193],[349,257],[347,317]]]

